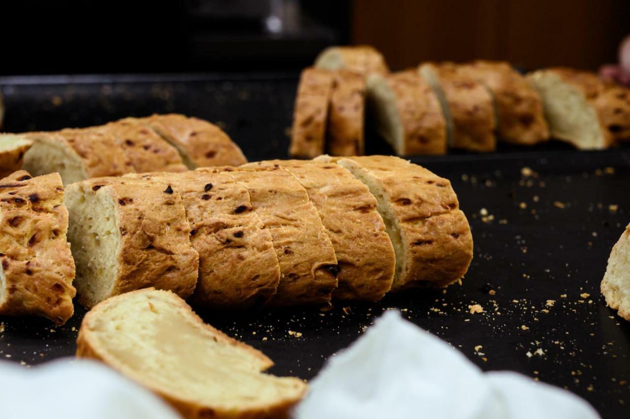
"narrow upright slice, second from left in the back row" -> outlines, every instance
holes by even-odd
[[[365,78],[347,70],[337,70],[333,81],[328,118],[328,152],[331,155],[363,155]]]

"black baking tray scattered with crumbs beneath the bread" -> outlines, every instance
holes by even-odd
[[[249,160],[287,157],[296,84],[297,74],[0,77],[6,131],[178,112],[221,125]],[[368,152],[391,152],[379,138],[367,140]],[[412,160],[452,181],[470,221],[474,260],[461,286],[335,302],[329,311],[200,315],[269,355],[272,372],[310,379],[384,310],[399,309],[485,371],[521,372],[580,395],[604,418],[630,417],[630,323],[599,291],[610,249],[630,222],[630,150],[578,152],[550,142]],[[473,304],[484,313],[471,314]],[[0,358],[34,365],[72,356],[83,315],[77,304],[57,328],[0,317]]]

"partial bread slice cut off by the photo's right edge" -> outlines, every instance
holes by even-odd
[[[606,304],[630,320],[630,225],[610,252],[601,288]]]

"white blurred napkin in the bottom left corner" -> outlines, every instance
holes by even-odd
[[[177,419],[150,391],[89,360],[25,367],[0,362],[3,419]]]

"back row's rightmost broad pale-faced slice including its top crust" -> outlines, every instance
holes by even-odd
[[[572,70],[539,70],[527,76],[541,95],[551,135],[584,150],[607,148],[612,134],[604,125],[596,106],[604,83],[594,74]]]

